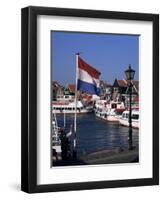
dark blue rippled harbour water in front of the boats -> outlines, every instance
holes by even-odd
[[[63,127],[63,115],[57,115],[58,126]],[[74,123],[74,115],[66,114],[66,127]],[[77,154],[78,156],[102,150],[128,148],[128,127],[97,118],[94,113],[77,115]],[[138,148],[139,130],[133,129],[133,146]]]

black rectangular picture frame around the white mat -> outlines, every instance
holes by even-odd
[[[37,184],[37,16],[151,21],[153,23],[153,177],[130,180]],[[159,15],[99,10],[26,7],[21,12],[21,190],[28,193],[159,184]]]

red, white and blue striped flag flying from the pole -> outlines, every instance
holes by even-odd
[[[77,89],[88,94],[100,95],[100,72],[78,56]]]

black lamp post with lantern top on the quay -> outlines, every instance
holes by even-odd
[[[131,65],[129,65],[129,68],[125,71],[126,79],[128,82],[128,89],[129,89],[129,138],[128,138],[128,149],[132,150],[132,80],[134,79],[135,70],[131,68]]]

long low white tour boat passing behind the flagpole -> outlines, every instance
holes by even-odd
[[[93,106],[84,106],[81,101],[77,101],[77,113],[88,113],[93,111]],[[75,101],[53,101],[53,113],[75,113]]]

